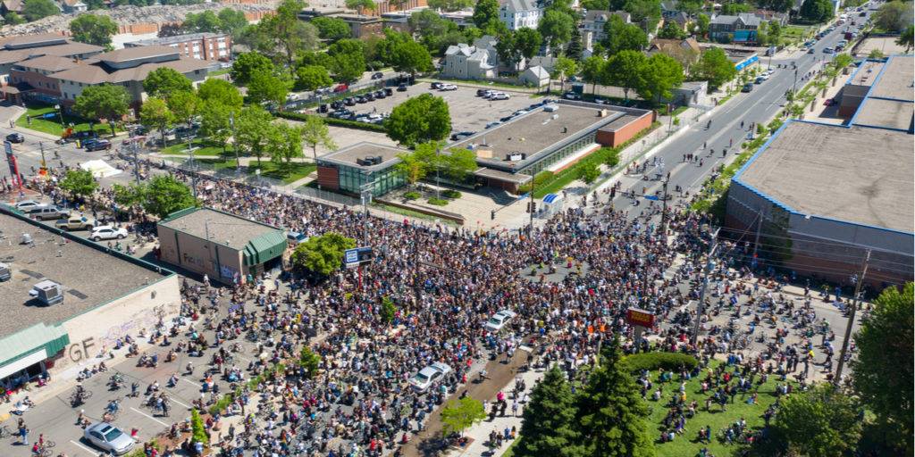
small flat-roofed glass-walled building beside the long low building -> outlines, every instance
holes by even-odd
[[[356,143],[318,157],[318,186],[350,194],[360,194],[363,186],[373,196],[382,196],[406,184],[394,165],[398,154],[408,151],[378,143]]]

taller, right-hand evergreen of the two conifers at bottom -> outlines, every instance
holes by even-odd
[[[624,51],[632,52],[632,51]],[[619,341],[612,338],[601,365],[588,377],[578,396],[576,428],[585,455],[651,457],[654,446],[645,418],[649,409],[630,372],[620,362]]]

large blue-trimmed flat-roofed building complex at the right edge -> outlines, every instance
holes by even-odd
[[[848,283],[869,251],[872,286],[912,281],[912,62],[872,69],[843,125],[786,122],[734,176],[726,224],[759,232],[763,266]]]

